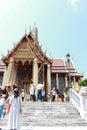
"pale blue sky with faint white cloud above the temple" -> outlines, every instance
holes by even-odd
[[[43,51],[53,58],[69,53],[87,78],[87,0],[0,0],[0,58],[35,23]]]

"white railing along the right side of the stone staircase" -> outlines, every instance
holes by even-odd
[[[80,95],[75,90],[70,89],[70,101],[80,112],[80,116],[87,120],[87,95]]]

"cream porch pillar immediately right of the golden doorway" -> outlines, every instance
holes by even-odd
[[[37,62],[37,58],[34,58],[33,61],[33,82],[35,84],[36,87],[36,93],[37,93],[37,85],[38,85],[38,62]]]

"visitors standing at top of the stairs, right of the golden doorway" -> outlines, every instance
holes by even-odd
[[[61,95],[61,96],[60,96]],[[64,101],[64,94],[59,92],[59,89],[56,89],[55,87],[52,88],[50,92],[50,101]],[[39,83],[37,85],[37,95],[35,94],[35,85],[32,82],[30,84],[30,101],[45,101],[46,92],[44,88],[44,84]],[[49,97],[48,97],[49,98]],[[48,99],[49,100],[49,99]]]

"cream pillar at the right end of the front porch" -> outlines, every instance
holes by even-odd
[[[51,92],[51,68],[50,64],[47,65],[47,88],[48,88],[48,94]]]

